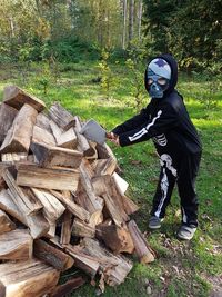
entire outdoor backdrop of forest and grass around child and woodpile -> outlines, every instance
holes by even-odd
[[[160,52],[178,60],[178,89],[203,142],[196,181],[200,228],[191,242],[175,239],[175,192],[163,229],[148,232],[159,175],[153,146],[111,143],[129,196],[140,206],[134,219],[158,258],[150,266],[135,260],[125,283],[107,288],[105,297],[222,293],[221,12],[221,0],[0,0],[0,92],[14,83],[48,106],[57,100],[83,120],[93,117],[108,130],[148,102],[147,61]],[[73,296],[95,293],[89,285]]]

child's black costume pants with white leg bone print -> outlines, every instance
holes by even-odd
[[[152,216],[163,218],[170,204],[174,185],[181,199],[182,224],[198,226],[198,197],[195,178],[199,171],[201,154],[185,154],[181,158],[172,158],[168,154],[160,156],[161,171],[153,197]]]

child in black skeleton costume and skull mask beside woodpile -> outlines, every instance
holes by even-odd
[[[161,171],[153,197],[149,227],[158,229],[165,216],[174,185],[181,199],[181,239],[191,239],[198,227],[195,178],[201,160],[201,142],[183,103],[174,89],[178,65],[171,55],[161,55],[147,67],[144,83],[150,103],[133,118],[112,130],[111,141],[121,147],[152,139],[160,156]]]

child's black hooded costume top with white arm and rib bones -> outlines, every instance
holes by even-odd
[[[120,146],[130,146],[152,138],[159,155],[180,158],[184,154],[201,152],[201,142],[191,122],[183,98],[174,89],[178,82],[178,65],[171,55],[161,55],[171,67],[171,79],[163,98],[152,98],[150,103],[133,118],[115,127]],[[145,88],[147,70],[144,76]]]

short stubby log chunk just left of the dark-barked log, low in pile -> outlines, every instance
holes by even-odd
[[[72,235],[78,237],[94,238],[95,228],[75,218],[72,224]]]

